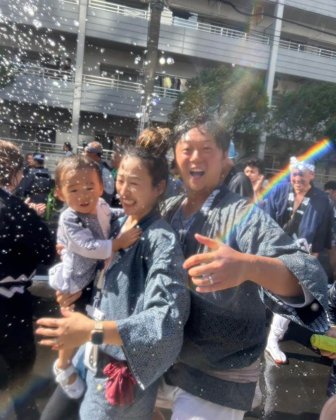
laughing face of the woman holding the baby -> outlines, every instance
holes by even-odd
[[[124,157],[119,166],[116,189],[126,215],[139,220],[154,207],[165,189],[165,181],[153,186],[147,166],[138,157]]]

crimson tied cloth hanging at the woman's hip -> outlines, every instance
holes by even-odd
[[[126,362],[114,360],[105,366],[104,375],[108,376],[105,396],[111,405],[124,406],[134,402],[133,378]]]

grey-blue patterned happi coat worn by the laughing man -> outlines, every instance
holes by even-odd
[[[174,197],[165,202],[162,210],[169,223],[183,200]],[[197,232],[214,239],[221,237],[240,252],[278,258],[315,297],[312,305],[291,307],[251,281],[213,293],[192,292],[182,350],[178,362],[165,374],[166,381],[207,401],[249,410],[256,383],[225,381],[201,370],[247,367],[260,357],[266,346],[265,303],[273,312],[324,333],[329,326],[327,277],[318,260],[301,251],[269,215],[257,206],[251,210],[246,199],[232,192],[210,210]],[[208,249],[198,244],[196,252]]]

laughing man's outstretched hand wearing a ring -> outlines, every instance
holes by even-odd
[[[195,237],[201,244],[214,250],[206,254],[193,255],[184,262],[184,268],[189,269],[189,276],[191,276],[193,283],[197,285],[196,291],[208,293],[229,289],[239,286],[247,280],[245,254],[235,251],[220,241],[198,234]],[[208,277],[209,274],[213,284]],[[205,277],[199,278],[198,276]]]

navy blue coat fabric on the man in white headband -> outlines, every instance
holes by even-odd
[[[289,220],[287,207],[290,186],[289,182],[283,182],[274,187],[265,208],[266,213],[282,228]],[[328,195],[318,188],[312,188],[310,201],[302,215],[297,237],[307,239],[308,244],[312,244],[312,252],[320,252],[325,248],[331,249],[332,215]]]

